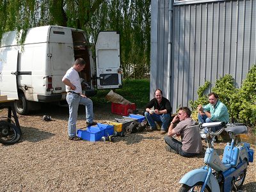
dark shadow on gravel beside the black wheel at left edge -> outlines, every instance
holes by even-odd
[[[34,127],[21,127],[22,136],[19,142],[29,141],[36,143],[38,141],[47,140],[54,136],[51,132],[35,129]]]

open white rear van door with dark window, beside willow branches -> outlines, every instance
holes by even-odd
[[[101,31],[95,44],[97,88],[122,88],[120,34]]]

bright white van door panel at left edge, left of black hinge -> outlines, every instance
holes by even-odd
[[[5,49],[0,52],[0,93],[8,99],[19,99],[17,92],[18,51]]]

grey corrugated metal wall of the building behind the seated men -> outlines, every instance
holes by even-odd
[[[198,3],[201,2],[201,3]],[[231,74],[240,86],[256,63],[256,0],[173,3],[171,95],[173,113],[197,99],[205,81]],[[152,0],[150,99],[166,97],[169,0]]]

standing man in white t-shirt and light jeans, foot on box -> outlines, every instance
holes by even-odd
[[[66,85],[67,102],[69,107],[68,118],[68,139],[69,140],[81,140],[76,136],[76,122],[77,112],[79,104],[85,106],[86,111],[86,123],[88,126],[96,125],[93,122],[93,103],[91,99],[88,99],[85,95],[82,95],[81,82],[79,72],[84,69],[85,61],[82,58],[78,58],[73,67],[67,70],[65,76],[62,78],[62,82]]]

